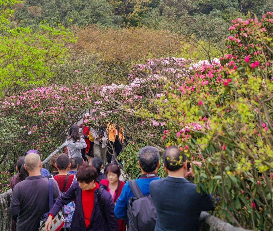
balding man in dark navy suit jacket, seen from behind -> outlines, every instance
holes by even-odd
[[[187,171],[186,156],[177,147],[170,147],[162,155],[168,176],[150,184],[157,220],[155,231],[198,231],[201,211],[214,210],[212,197],[196,191],[196,185],[184,177]]]

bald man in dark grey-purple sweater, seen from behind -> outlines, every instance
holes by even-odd
[[[36,231],[40,218],[49,211],[48,179],[41,175],[41,159],[37,153],[25,157],[25,169],[29,176],[19,182],[12,191],[10,213],[17,219],[17,231]],[[54,181],[54,201],[60,196]]]

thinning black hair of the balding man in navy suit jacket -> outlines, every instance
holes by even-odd
[[[179,149],[176,146],[165,149],[162,155],[163,163],[165,167],[171,171],[175,172],[183,167],[184,162],[187,160],[187,157],[180,153]]]

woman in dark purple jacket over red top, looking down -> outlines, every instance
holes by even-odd
[[[54,218],[64,205],[75,200],[75,212],[70,230],[86,231],[118,231],[118,222],[114,214],[114,203],[106,190],[100,189],[97,180],[97,170],[84,163],[77,172],[75,182],[61,197],[57,199],[49,211],[45,230],[49,231]],[[98,193],[101,191],[101,202]],[[102,206],[102,210],[100,209]]]

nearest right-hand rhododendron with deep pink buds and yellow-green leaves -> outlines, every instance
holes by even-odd
[[[216,214],[252,230],[273,229],[272,22],[272,13],[233,21],[221,64],[168,83],[151,103],[158,114],[140,110],[165,121],[165,146],[202,162],[194,182],[198,191],[221,196]]]

